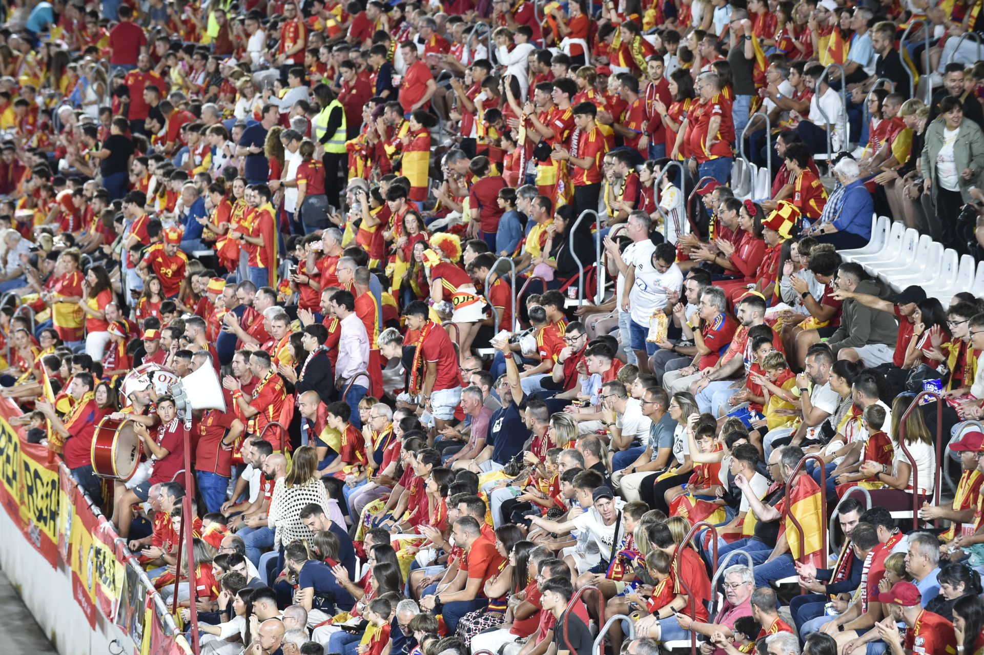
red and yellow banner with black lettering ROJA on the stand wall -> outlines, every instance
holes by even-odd
[[[58,464],[47,447],[29,444],[8,419],[21,410],[0,398],[0,503],[51,566],[58,562]]]

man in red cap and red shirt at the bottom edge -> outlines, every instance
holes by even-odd
[[[891,591],[878,596],[889,616],[875,624],[879,636],[889,646],[892,655],[928,653],[931,655],[955,655],[956,635],[953,624],[933,612],[922,608],[922,596],[911,582],[895,582]],[[897,622],[904,622],[908,629],[902,637]]]

